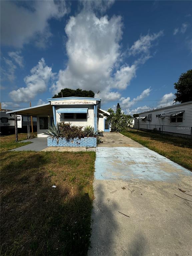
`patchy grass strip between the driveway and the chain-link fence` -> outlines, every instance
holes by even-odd
[[[192,170],[192,140],[137,130],[126,130],[122,134]]]

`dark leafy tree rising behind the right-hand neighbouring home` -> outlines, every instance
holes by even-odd
[[[186,73],[182,73],[177,83],[174,83],[175,89],[175,101],[184,103],[192,101],[192,69],[189,69]]]

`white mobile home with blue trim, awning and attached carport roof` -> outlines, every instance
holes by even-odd
[[[37,137],[47,137],[44,135],[48,124],[56,125],[61,121],[70,122],[77,126],[90,125],[94,131],[109,132],[107,116],[110,114],[100,108],[100,98],[65,97],[47,99],[48,103],[9,111],[7,114],[17,113],[21,115],[37,117]]]

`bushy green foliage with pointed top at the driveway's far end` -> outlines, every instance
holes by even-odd
[[[112,108],[107,110],[110,113],[110,116],[107,117],[107,122],[111,126],[111,132],[121,132],[123,129],[129,126],[130,121],[128,120],[130,117],[121,112],[121,107],[119,103],[116,107],[116,113]]]

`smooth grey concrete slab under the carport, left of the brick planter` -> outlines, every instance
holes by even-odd
[[[22,142],[29,141],[32,143],[19,148],[11,149],[11,151],[41,151],[47,147],[47,138],[33,138],[31,140],[23,140]]]

